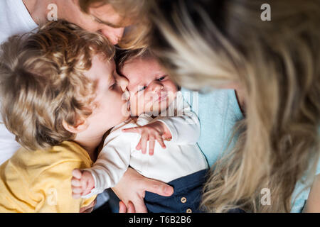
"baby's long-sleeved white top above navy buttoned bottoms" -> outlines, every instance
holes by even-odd
[[[95,188],[83,197],[99,194],[107,188],[114,187],[129,166],[144,177],[166,183],[208,168],[206,157],[196,145],[200,136],[198,116],[183,100],[181,92],[178,92],[176,100],[167,112],[176,113],[176,116],[159,116],[153,119],[148,114],[142,114],[137,123],[124,122],[112,129],[95,164],[90,169],[85,169],[90,171],[95,179]],[[141,135],[123,133],[122,129],[144,126],[151,121],[164,122],[171,132],[172,139],[164,141],[165,149],[156,142],[154,155],[149,155],[149,146],[147,154],[142,154],[141,150],[135,149]]]

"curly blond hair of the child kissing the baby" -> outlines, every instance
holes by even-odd
[[[1,45],[1,114],[24,148],[45,149],[75,138],[63,121],[76,126],[92,114],[95,82],[83,72],[97,54],[110,60],[114,47],[103,35],[66,21]]]

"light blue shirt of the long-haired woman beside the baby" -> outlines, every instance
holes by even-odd
[[[209,166],[213,165],[228,146],[233,127],[244,116],[240,111],[238,100],[233,89],[220,89],[207,94],[191,92],[181,89],[184,99],[191,105],[192,110],[198,114],[201,124],[201,135],[198,146],[206,156]],[[236,136],[230,146],[235,145]],[[320,173],[320,162],[316,174]],[[301,212],[308,199],[310,188],[304,189],[304,184],[297,182],[292,194],[292,212]],[[299,194],[299,192],[302,192]],[[299,196],[297,196],[299,194]],[[271,195],[272,196],[272,195]],[[297,196],[297,199],[293,199]]]

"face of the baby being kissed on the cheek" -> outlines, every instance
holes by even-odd
[[[164,111],[176,97],[176,84],[154,59],[128,60],[121,73],[129,79],[132,116]]]

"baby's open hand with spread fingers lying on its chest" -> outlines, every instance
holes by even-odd
[[[146,144],[149,141],[149,155],[154,154],[155,140],[161,145],[162,148],[166,148],[164,140],[171,140],[171,133],[169,128],[166,127],[161,121],[154,121],[145,126],[125,128],[122,129],[124,133],[139,133],[141,134],[140,141],[136,147],[137,150],[142,150],[142,154],[146,153]]]

